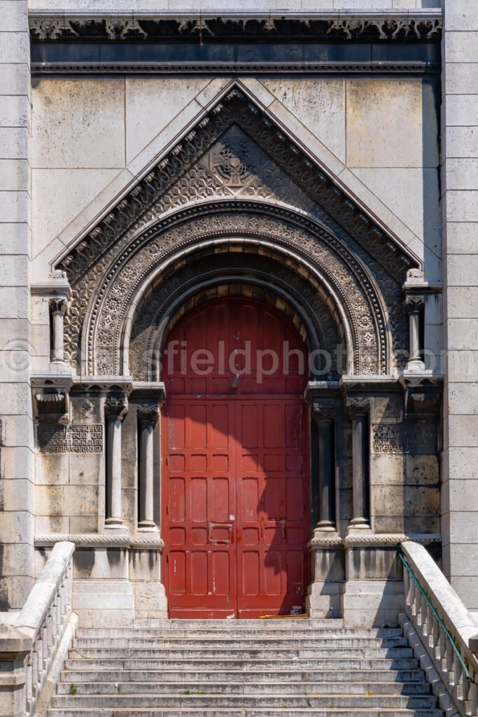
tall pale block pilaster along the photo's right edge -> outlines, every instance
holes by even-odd
[[[478,4],[444,6],[443,569],[467,607],[478,610]]]

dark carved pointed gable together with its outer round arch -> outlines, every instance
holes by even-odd
[[[70,363],[124,372],[131,307],[151,282],[199,243],[239,240],[275,247],[325,288],[350,371],[391,371],[407,348],[401,285],[414,260],[236,89],[59,262],[72,285]]]

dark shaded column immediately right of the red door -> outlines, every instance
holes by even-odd
[[[335,457],[333,402],[322,401],[312,406],[317,425],[317,468],[319,478],[319,522],[317,531],[335,531]]]

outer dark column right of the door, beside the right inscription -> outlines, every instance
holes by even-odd
[[[352,421],[353,516],[348,531],[370,530],[370,486],[368,475],[368,409],[366,397],[347,397],[345,406]]]

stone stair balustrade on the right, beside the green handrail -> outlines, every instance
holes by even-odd
[[[431,672],[436,670],[436,683],[446,690],[442,707],[447,714],[476,717],[477,623],[424,546],[406,541],[402,551],[406,617],[431,661]],[[423,661],[421,666],[426,666]]]

